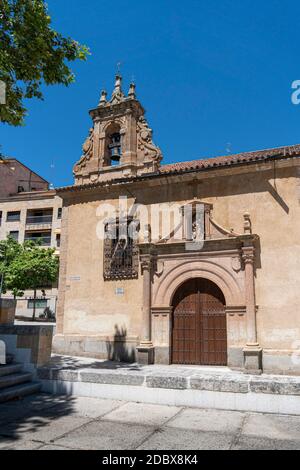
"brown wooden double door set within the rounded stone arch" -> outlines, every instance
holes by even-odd
[[[225,298],[208,279],[191,279],[173,298],[172,363],[227,365]]]

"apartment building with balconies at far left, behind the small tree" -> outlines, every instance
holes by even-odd
[[[0,240],[8,235],[18,242],[41,240],[59,256],[62,201],[49,183],[16,159],[0,160]],[[9,294],[6,294],[9,296]],[[45,286],[38,293],[37,316],[46,307],[56,310],[57,286]],[[30,318],[33,292],[18,299],[16,316]]]

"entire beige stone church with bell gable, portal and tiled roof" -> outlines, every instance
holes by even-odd
[[[63,200],[54,351],[300,373],[300,145],[162,164],[116,77]]]

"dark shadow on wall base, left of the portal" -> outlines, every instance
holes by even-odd
[[[115,325],[113,341],[106,340],[107,357],[110,361],[132,363],[136,361],[135,348],[126,342],[127,329]]]

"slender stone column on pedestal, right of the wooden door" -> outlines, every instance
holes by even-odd
[[[255,248],[245,246],[242,248],[245,265],[245,297],[246,297],[246,324],[247,343],[244,348],[244,366],[249,373],[259,373],[262,370],[262,349],[257,341],[256,326],[256,299],[254,262]]]

